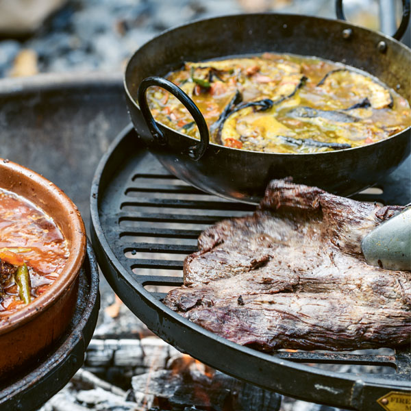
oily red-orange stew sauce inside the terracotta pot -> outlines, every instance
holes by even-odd
[[[0,189],[0,256],[12,256],[27,264],[31,301],[59,277],[69,258],[67,242],[45,212],[21,196]],[[1,279],[0,279],[1,280]],[[23,308],[18,284],[13,275],[4,276],[0,284],[1,317]]]

